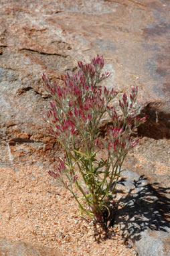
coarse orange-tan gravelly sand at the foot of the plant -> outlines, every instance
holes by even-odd
[[[78,214],[72,195],[37,166],[1,168],[0,238],[60,249],[65,255],[135,256],[115,229],[107,235]]]

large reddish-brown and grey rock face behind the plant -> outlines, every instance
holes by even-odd
[[[170,4],[161,0],[1,1],[1,166],[19,170],[19,164],[48,167],[54,162],[60,145],[42,119],[50,99],[41,74],[61,82],[78,60],[104,54],[106,70],[112,72],[106,86],[116,86],[121,94],[137,84],[148,116],[139,128],[147,139],[126,167],[168,186],[169,10]]]

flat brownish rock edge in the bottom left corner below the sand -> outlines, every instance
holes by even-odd
[[[56,249],[0,239],[1,256],[61,256]]]

